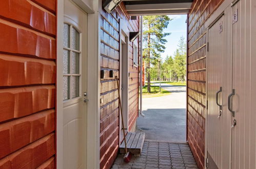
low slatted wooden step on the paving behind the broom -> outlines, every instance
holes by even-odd
[[[128,132],[125,138],[128,152],[140,155],[145,140],[145,133]],[[120,145],[120,153],[125,154],[125,141]]]

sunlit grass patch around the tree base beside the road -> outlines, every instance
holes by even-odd
[[[165,96],[171,94],[170,92],[161,89],[161,93],[159,92],[159,87],[158,86],[151,86],[151,93],[147,92],[147,86],[142,88],[142,97],[143,98],[148,98],[148,97],[160,97],[160,96]]]

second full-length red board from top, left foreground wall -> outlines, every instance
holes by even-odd
[[[0,52],[55,59],[55,40],[0,23]]]

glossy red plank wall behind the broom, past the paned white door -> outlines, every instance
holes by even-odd
[[[139,19],[129,20],[124,13],[124,6],[118,7],[111,14],[101,10],[101,124],[100,124],[100,167],[110,168],[119,149],[119,101],[115,76],[120,68],[120,25],[119,19],[126,20],[128,29],[139,31]],[[137,40],[134,43],[138,43]],[[139,44],[137,44],[139,45]],[[129,43],[129,129],[138,116],[139,69],[133,68],[133,44]],[[110,70],[114,76],[109,76]]]

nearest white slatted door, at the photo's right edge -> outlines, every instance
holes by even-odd
[[[231,168],[256,168],[256,2],[241,0],[232,7],[233,76]]]

